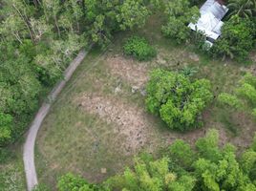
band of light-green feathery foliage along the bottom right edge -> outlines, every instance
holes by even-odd
[[[239,157],[231,144],[219,146],[217,131],[199,138],[195,149],[181,139],[176,140],[160,159],[143,154],[135,159],[133,168],[106,180],[100,185],[89,184],[80,177],[67,174],[58,181],[59,191],[68,190],[256,190],[256,138]]]

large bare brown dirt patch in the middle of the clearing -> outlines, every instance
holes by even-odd
[[[147,141],[150,124],[141,109],[126,105],[115,98],[96,95],[83,95],[77,101],[87,112],[98,115],[107,123],[116,124],[114,133],[126,137],[122,146],[127,153],[134,153]]]

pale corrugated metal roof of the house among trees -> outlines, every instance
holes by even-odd
[[[216,0],[207,0],[200,9],[201,17],[196,24],[190,23],[194,31],[202,31],[207,37],[216,40],[221,34],[222,19],[228,9]]]

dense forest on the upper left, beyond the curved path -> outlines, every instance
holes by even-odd
[[[156,5],[157,1],[152,1]],[[0,146],[18,138],[40,96],[82,47],[141,27],[150,1],[1,1]]]

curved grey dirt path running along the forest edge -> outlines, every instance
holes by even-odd
[[[27,188],[29,191],[32,191],[32,188],[37,184],[37,176],[34,166],[34,142],[37,132],[41,126],[43,119],[49,113],[52,102],[55,100],[56,96],[59,95],[63,87],[66,85],[67,81],[70,80],[72,74],[74,74],[75,72],[75,69],[77,68],[77,66],[79,66],[87,53],[88,52],[85,52],[84,50],[78,53],[70,66],[66,69],[64,73],[64,79],[62,79],[54,86],[53,91],[48,96],[49,101],[45,101],[42,104],[41,108],[38,110],[36,116],[32,121],[23,150],[24,168],[27,180]]]

